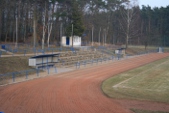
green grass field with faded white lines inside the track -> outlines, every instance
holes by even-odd
[[[102,84],[112,98],[169,103],[169,58],[114,76]]]

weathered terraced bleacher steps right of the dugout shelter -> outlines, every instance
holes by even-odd
[[[101,59],[108,57],[107,55],[93,50],[87,51],[67,51],[60,53],[59,61],[55,64],[56,67],[71,67],[78,65],[93,64],[99,62]]]

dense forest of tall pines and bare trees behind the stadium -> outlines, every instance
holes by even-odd
[[[72,30],[73,29],[73,30]],[[137,0],[1,0],[0,43],[83,43],[169,46],[169,6],[139,7]]]

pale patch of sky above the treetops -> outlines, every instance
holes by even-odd
[[[149,5],[152,8],[153,7],[166,7],[169,5],[169,0],[139,0],[139,6],[141,7],[142,5]]]

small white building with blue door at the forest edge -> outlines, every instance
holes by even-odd
[[[62,36],[61,45],[62,46],[72,46],[72,36],[71,37]],[[74,47],[81,46],[81,37],[73,36],[73,46]]]

